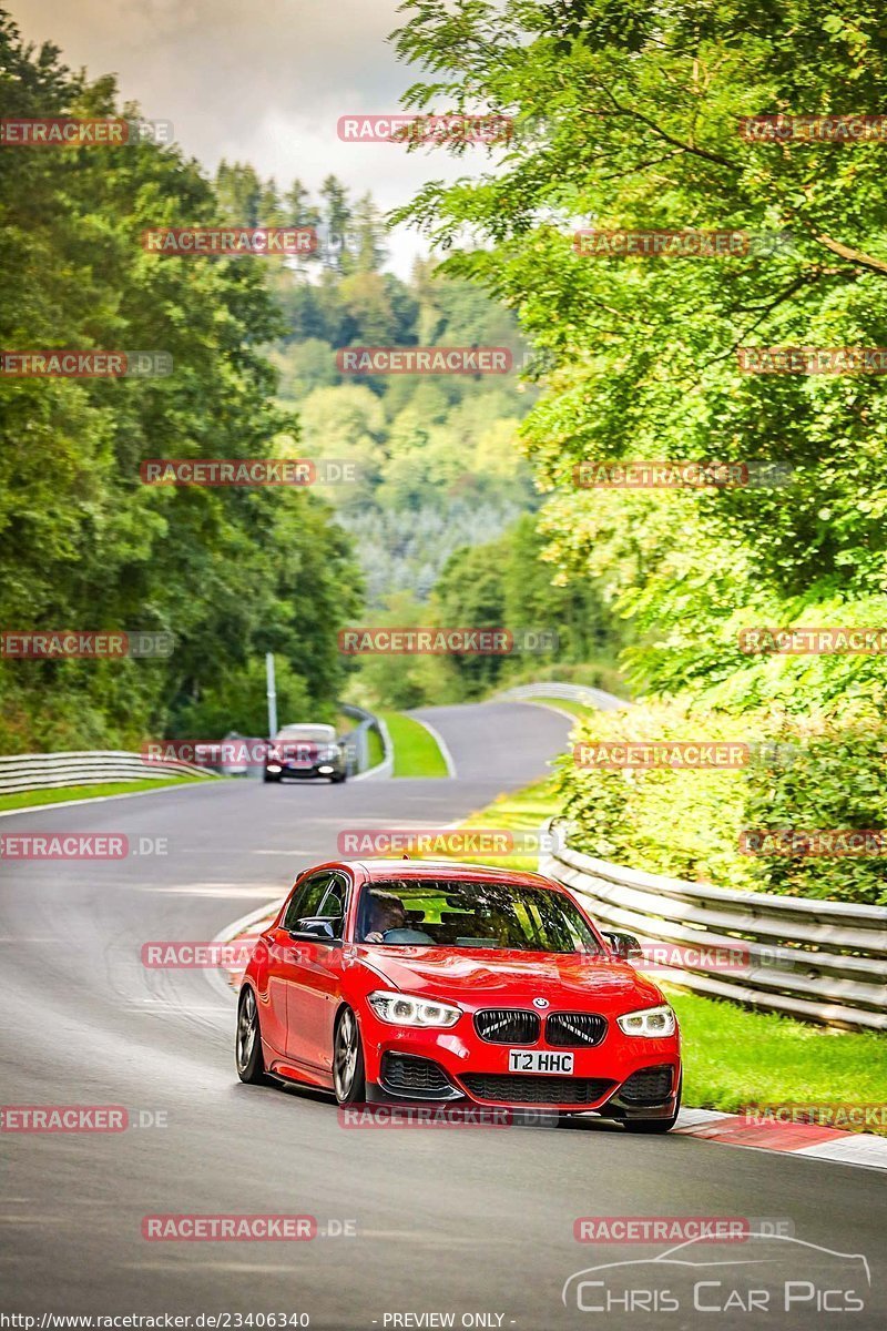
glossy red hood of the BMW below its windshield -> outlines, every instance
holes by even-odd
[[[629,1012],[664,1002],[652,981],[610,957],[451,948],[359,948],[360,960],[404,993],[463,1008],[511,1008],[547,998],[552,1008]]]

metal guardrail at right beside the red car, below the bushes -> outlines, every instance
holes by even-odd
[[[680,965],[657,965],[657,978],[803,1021],[887,1030],[886,908],[685,882],[560,840],[540,855],[540,873],[570,888],[604,928],[636,934],[645,949],[674,948]],[[725,965],[737,953],[743,964]]]

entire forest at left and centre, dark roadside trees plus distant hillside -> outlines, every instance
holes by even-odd
[[[112,79],[89,83],[57,51],[24,48],[8,19],[0,55],[3,116],[137,113],[118,105]],[[479,696],[525,668],[426,662],[398,681],[383,662],[336,650],[338,628],[358,616],[551,624],[551,572],[523,520],[539,495],[516,445],[536,371],[500,301],[438,278],[434,261],[418,262],[410,281],[386,272],[372,198],[352,200],[335,177],[313,201],[298,181],[281,190],[249,165],[222,162],[210,180],[177,148],[148,141],[9,152],[4,168],[3,345],[162,350],[174,373],[0,378],[0,623],[162,631],[174,650],[0,656],[0,751],[262,733],[266,651],[290,717],[331,717],[346,693],[392,704]],[[313,226],[318,246],[258,261],[144,252],[146,228],[182,222]],[[358,381],[336,370],[335,351],[348,345],[507,346],[515,369]],[[356,480],[144,486],[140,465],[164,457],[344,459]],[[459,586],[472,547],[485,563],[481,602]],[[509,579],[528,560],[536,590],[516,598]],[[592,639],[612,658],[600,600],[588,588],[561,599],[574,624],[577,607],[592,606],[592,627],[563,638],[569,659]]]

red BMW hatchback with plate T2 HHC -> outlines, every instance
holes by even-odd
[[[681,1101],[680,1034],[630,965],[636,949],[536,873],[323,864],[255,945],[237,1070],[342,1105],[532,1105],[665,1133]]]

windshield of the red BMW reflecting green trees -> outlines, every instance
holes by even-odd
[[[392,878],[360,893],[358,941],[386,946],[601,953],[577,906],[549,888]]]

